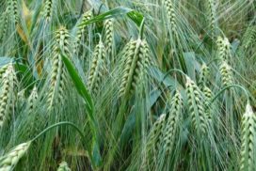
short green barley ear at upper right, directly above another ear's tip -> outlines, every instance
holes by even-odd
[[[231,43],[227,38],[218,37],[216,40],[217,57],[220,60],[229,60],[231,58]]]

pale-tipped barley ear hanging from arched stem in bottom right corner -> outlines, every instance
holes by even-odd
[[[256,170],[256,117],[249,104],[242,118],[241,171]]]

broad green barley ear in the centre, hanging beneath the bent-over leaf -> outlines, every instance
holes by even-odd
[[[133,94],[136,86],[142,83],[150,61],[149,45],[144,39],[131,40],[125,47],[124,69],[120,84],[120,97]]]

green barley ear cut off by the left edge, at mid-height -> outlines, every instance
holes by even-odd
[[[5,121],[11,116],[16,96],[17,78],[12,64],[8,65],[8,69],[3,75],[0,91],[0,128],[3,127]]]

